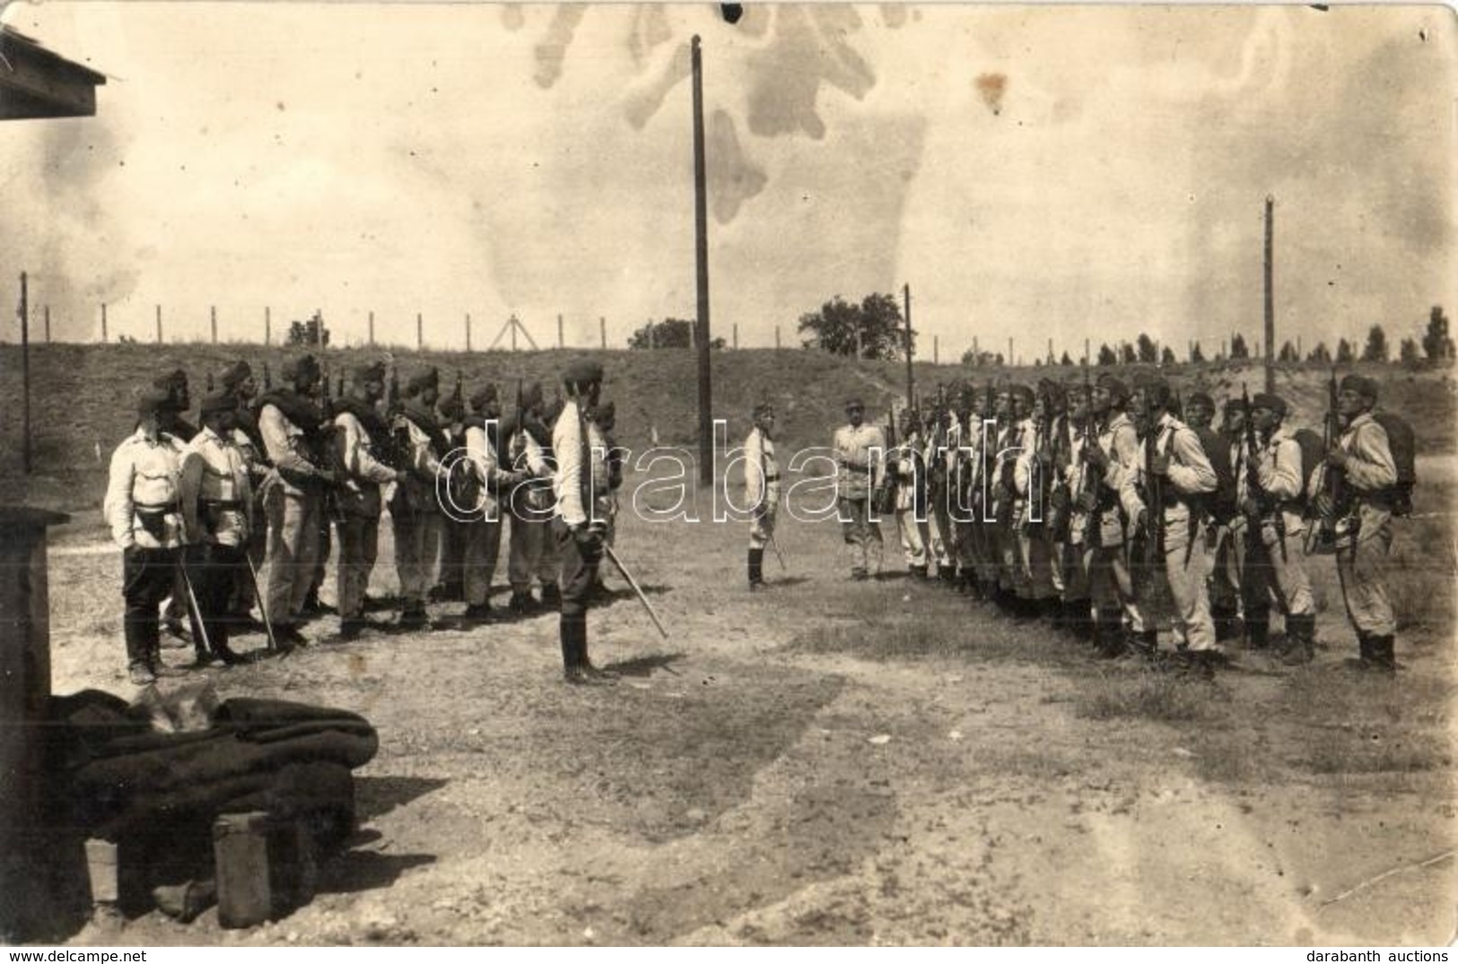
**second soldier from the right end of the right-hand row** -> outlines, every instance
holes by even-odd
[[[1286,613],[1283,663],[1311,663],[1317,645],[1317,606],[1305,562],[1301,443],[1283,425],[1286,400],[1257,395],[1251,402],[1255,449],[1242,453],[1244,472],[1236,478],[1241,511],[1247,520],[1245,632],[1263,648],[1274,598]]]

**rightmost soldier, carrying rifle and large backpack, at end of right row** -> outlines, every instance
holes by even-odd
[[[1341,379],[1337,414],[1343,430],[1319,470],[1317,507],[1324,518],[1336,520],[1337,575],[1347,619],[1357,633],[1359,665],[1395,673],[1397,620],[1384,569],[1392,548],[1389,499],[1397,462],[1387,430],[1372,416],[1376,396],[1373,379]]]

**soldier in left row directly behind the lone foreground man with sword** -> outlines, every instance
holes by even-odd
[[[515,416],[503,427],[509,440],[507,459],[512,470],[523,478],[512,486],[509,501],[512,540],[506,565],[512,582],[509,606],[519,615],[539,609],[532,597],[534,575],[542,585],[542,603],[548,606],[560,603],[555,582],[544,578],[551,569],[545,543],[551,537],[553,518],[553,467],[548,459],[551,437],[542,422],[544,412],[542,389],[534,382],[522,393]]]

